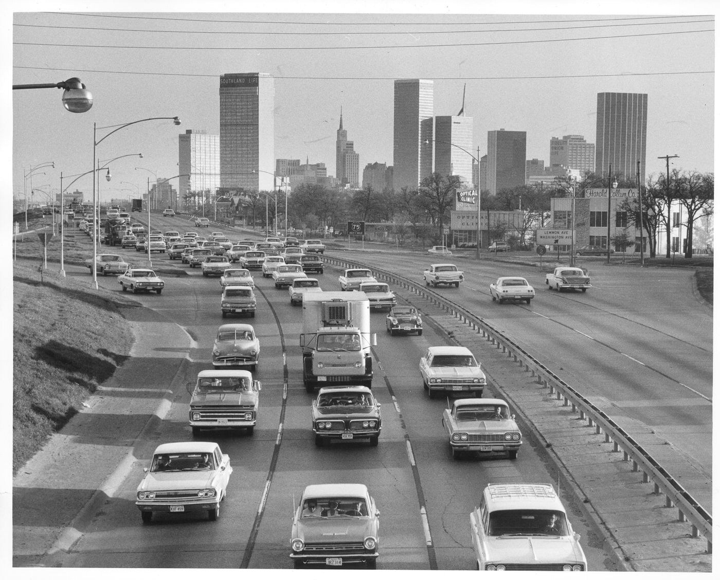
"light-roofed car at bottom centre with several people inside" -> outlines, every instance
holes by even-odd
[[[330,568],[364,563],[376,568],[380,512],[363,484],[305,487],[292,518],[290,558],[294,568]]]

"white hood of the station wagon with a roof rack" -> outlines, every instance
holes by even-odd
[[[553,563],[584,562],[580,545],[572,536],[502,536],[487,539],[487,556],[491,562]]]

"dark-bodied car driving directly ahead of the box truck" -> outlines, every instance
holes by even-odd
[[[380,404],[366,386],[323,386],[312,402],[312,432],[318,447],[332,439],[365,438],[375,447],[380,430]]]

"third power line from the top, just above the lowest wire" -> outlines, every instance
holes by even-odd
[[[123,45],[81,45],[81,44],[58,44],[54,42],[13,42],[13,45],[19,46],[54,46],[66,48],[130,48],[141,50],[372,50],[381,49],[389,50],[391,48],[451,48],[451,47],[472,47],[472,46],[500,46],[500,45],[529,45],[540,44],[543,42],[575,42],[577,40],[609,40],[613,38],[639,38],[649,36],[666,36],[666,35],[687,35],[696,32],[715,32],[713,29],[708,30],[687,30],[674,32],[647,32],[646,34],[636,35],[610,35],[610,36],[590,36],[580,38],[555,38],[547,40],[507,40],[498,42],[457,42],[449,44],[434,45],[372,45],[372,46],[264,46],[264,47],[212,47],[212,46],[123,46]]]

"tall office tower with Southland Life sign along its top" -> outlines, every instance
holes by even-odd
[[[275,167],[274,78],[220,76],[220,186],[271,190]]]

